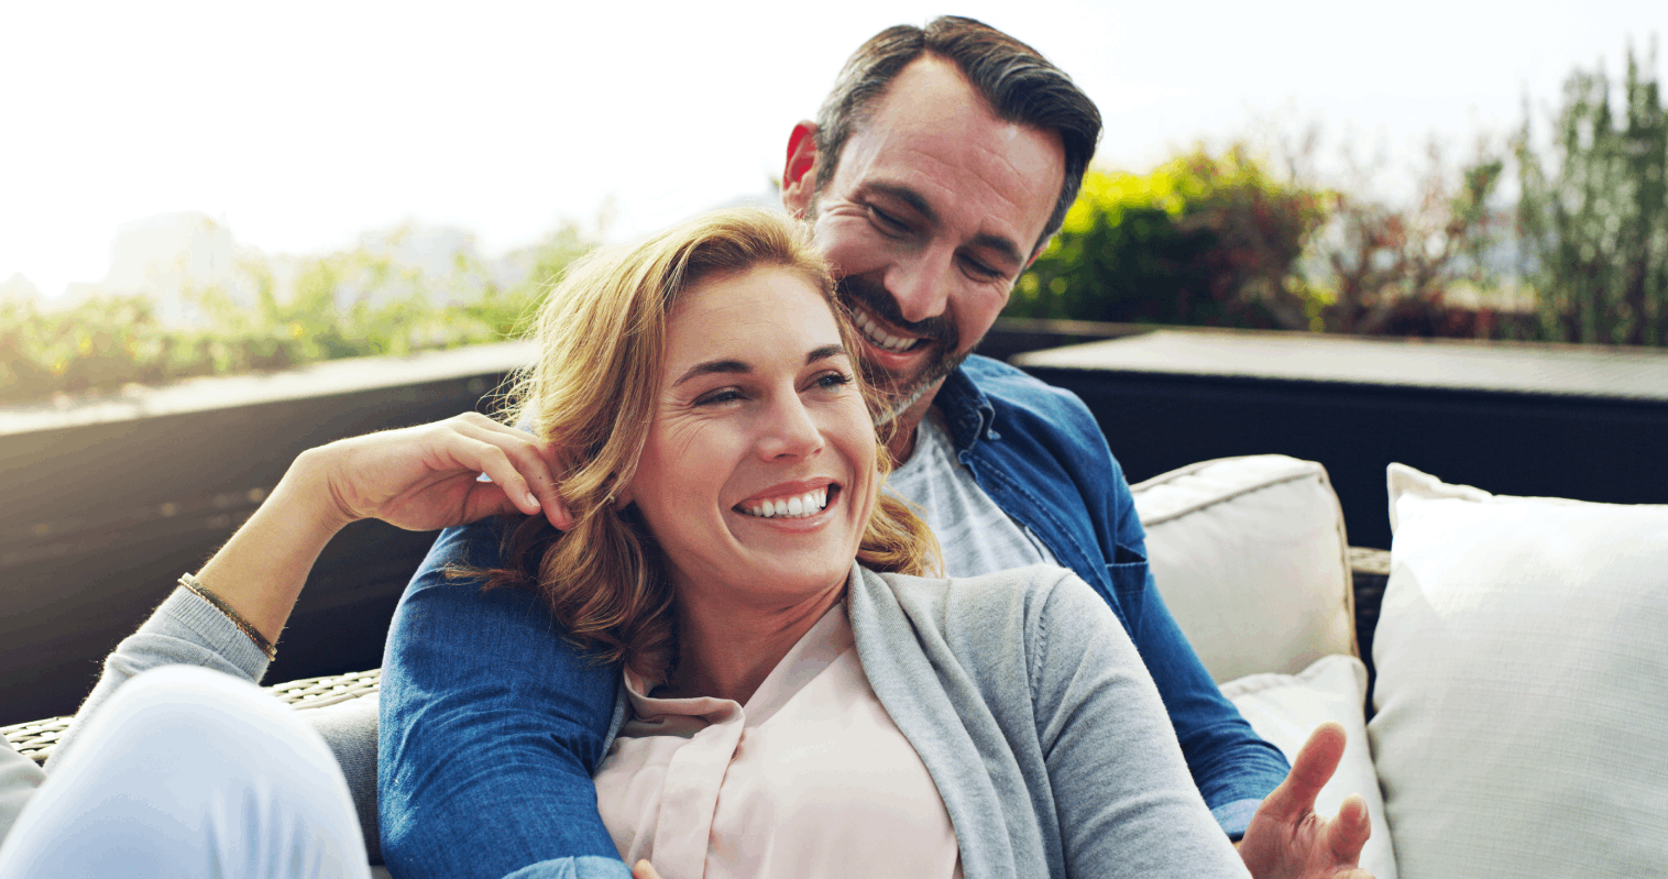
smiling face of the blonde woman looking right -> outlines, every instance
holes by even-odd
[[[762,267],[679,299],[627,485],[681,594],[772,605],[844,584],[877,490],[874,427],[822,295]]]

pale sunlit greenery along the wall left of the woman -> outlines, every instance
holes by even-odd
[[[282,299],[272,267],[245,262],[254,302],[222,287],[187,289],[183,299],[202,315],[193,327],[163,325],[143,295],[52,312],[0,300],[0,402],[512,339],[587,247],[564,227],[527,255],[525,275],[509,287],[464,254],[442,277],[364,249],[329,254],[304,260]]]

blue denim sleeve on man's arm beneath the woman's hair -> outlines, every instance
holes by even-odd
[[[590,774],[619,669],[522,590],[445,567],[499,562],[492,520],[447,529],[400,599],[382,664],[377,787],[395,876],[627,877]]]

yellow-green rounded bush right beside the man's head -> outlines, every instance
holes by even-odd
[[[1148,175],[1091,170],[1006,314],[1271,327],[1304,300],[1293,265],[1323,218],[1323,193],[1276,183],[1244,147]]]

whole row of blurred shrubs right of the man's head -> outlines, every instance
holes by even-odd
[[[1668,125],[1628,52],[1576,70],[1536,140],[1453,165],[1431,143],[1409,203],[1316,182],[1309,132],[1093,170],[1009,315],[1346,334],[1668,344]],[[1620,108],[1618,108],[1620,107]],[[1545,143],[1536,147],[1536,143]]]

